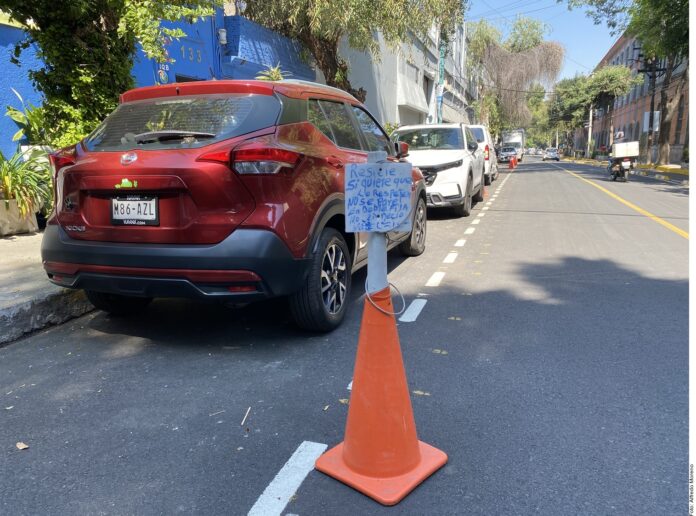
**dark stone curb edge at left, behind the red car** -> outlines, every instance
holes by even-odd
[[[82,290],[56,287],[38,298],[0,309],[0,344],[94,310]]]

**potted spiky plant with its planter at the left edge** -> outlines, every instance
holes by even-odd
[[[0,152],[0,236],[36,231],[36,212],[51,196],[50,169],[40,156]]]

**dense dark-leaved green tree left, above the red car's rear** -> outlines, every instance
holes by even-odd
[[[15,48],[36,43],[44,67],[30,77],[43,93],[43,117],[51,144],[67,145],[90,132],[133,87],[136,44],[164,61],[167,38],[184,35],[163,28],[161,20],[195,21],[213,13],[208,0],[75,0],[57,8],[51,0],[0,0],[0,10],[23,24],[27,38]]]

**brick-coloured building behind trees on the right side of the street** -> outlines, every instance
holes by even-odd
[[[634,76],[640,75],[639,69],[645,67],[645,63],[640,58],[640,42],[635,38],[622,35],[609,49],[606,55],[599,62],[595,70],[609,65],[628,66]],[[668,96],[673,97],[677,82],[686,69],[686,60],[673,72],[672,80],[668,85]],[[665,68],[666,59],[658,63],[657,68]],[[600,108],[594,112],[594,123],[592,127],[592,140],[594,150],[599,154],[606,154],[610,146],[610,135],[612,127],[614,134],[621,131],[625,137],[641,142],[641,152],[647,158],[648,127],[650,116],[650,102],[652,92],[650,91],[650,79],[647,74],[643,74],[643,83],[635,86],[626,95],[615,99],[611,110]],[[657,141],[660,130],[660,91],[664,84],[664,73],[658,74],[655,84],[655,114],[653,127],[655,129],[652,159],[657,158]],[[687,78],[688,81],[688,78]],[[576,141],[576,148],[585,148],[587,142],[587,130],[583,132],[583,138]],[[689,142],[689,88],[688,82],[682,90],[679,98],[677,112],[675,113],[670,126],[670,162],[680,163],[684,147]],[[579,145],[578,145],[579,144]]]

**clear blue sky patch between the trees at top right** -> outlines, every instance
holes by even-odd
[[[606,25],[595,25],[584,9],[569,11],[566,1],[470,0],[465,20],[479,21],[485,18],[506,35],[518,14],[546,23],[549,26],[546,39],[556,41],[565,48],[559,79],[592,71],[618,39],[618,36],[609,34]]]

